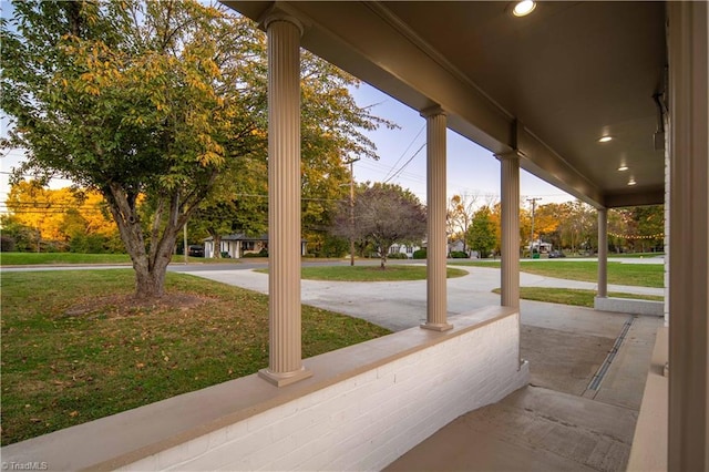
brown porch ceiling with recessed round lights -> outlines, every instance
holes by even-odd
[[[224,3],[298,18],[304,48],[414,110],[442,106],[452,130],[518,150],[523,168],[596,207],[662,203],[664,2],[541,2],[525,18],[511,2]]]

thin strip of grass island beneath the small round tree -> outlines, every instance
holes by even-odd
[[[258,269],[268,273],[268,269]],[[448,268],[448,278],[463,277],[466,270]],[[384,270],[379,266],[311,266],[300,269],[300,277],[307,280],[336,281],[388,281],[425,280],[425,266],[388,265]]]

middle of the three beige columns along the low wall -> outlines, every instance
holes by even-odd
[[[445,331],[453,328],[446,321],[445,256],[445,130],[446,116],[439,107],[424,110],[427,123],[427,321],[421,328]]]

